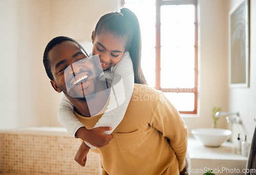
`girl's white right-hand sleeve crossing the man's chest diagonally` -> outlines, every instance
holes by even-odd
[[[111,131],[104,131],[105,134],[111,134],[122,121],[133,94],[134,71],[129,52],[126,52],[121,61],[111,67],[111,70],[104,71],[104,74],[101,80],[104,80],[104,78],[113,80],[110,91],[110,102],[94,128],[112,127],[113,129]],[[94,148],[87,142],[86,144]]]

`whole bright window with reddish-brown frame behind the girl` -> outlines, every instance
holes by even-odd
[[[180,113],[196,114],[197,0],[126,0],[124,7],[140,22],[147,83],[163,91]]]

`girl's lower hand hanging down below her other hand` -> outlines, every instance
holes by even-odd
[[[86,160],[87,160],[87,154],[89,153],[90,147],[86,145],[86,143],[82,142],[76,155],[75,155],[75,161],[81,165],[85,166],[86,165]]]

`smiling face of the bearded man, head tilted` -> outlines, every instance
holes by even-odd
[[[95,92],[94,64],[74,42],[55,45],[48,57],[54,77],[51,84],[57,92],[63,91],[71,97],[84,97]]]

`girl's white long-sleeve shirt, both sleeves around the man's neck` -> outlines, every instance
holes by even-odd
[[[129,52],[124,53],[119,63],[104,71],[100,80],[105,81],[105,79],[112,80],[110,101],[105,113],[94,128],[112,127],[111,131],[104,132],[105,134],[111,134],[122,121],[134,89],[133,62]],[[59,102],[58,120],[74,137],[76,137],[77,130],[84,127],[75,117],[74,106],[65,94],[62,94]],[[93,149],[96,148],[88,142],[85,143]]]

